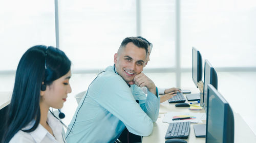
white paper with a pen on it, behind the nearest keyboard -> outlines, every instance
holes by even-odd
[[[173,123],[173,122],[187,122],[191,123],[202,123],[201,119],[205,113],[191,113],[191,112],[168,112],[164,114],[164,118],[162,122],[165,123]],[[183,117],[191,117],[191,119],[185,120],[175,120],[174,118],[183,118]]]

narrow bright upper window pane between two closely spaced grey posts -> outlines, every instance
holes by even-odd
[[[146,68],[175,67],[175,1],[141,1],[141,35],[153,44]]]

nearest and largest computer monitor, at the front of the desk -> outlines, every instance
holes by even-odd
[[[206,143],[233,143],[233,111],[214,86],[208,84],[207,89]]]

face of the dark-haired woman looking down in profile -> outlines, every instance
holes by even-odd
[[[47,85],[45,94],[42,95],[41,101],[46,106],[60,109],[71,93],[69,79],[71,77],[71,70],[66,75],[54,80],[51,85]]]

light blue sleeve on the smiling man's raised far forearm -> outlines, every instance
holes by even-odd
[[[133,95],[136,100],[139,100],[140,107],[147,114],[148,117],[152,119],[153,122],[156,122],[159,115],[159,106],[160,106],[160,97],[158,95],[158,89],[156,88],[157,95],[151,93],[147,89],[147,96],[144,92],[133,85]]]

